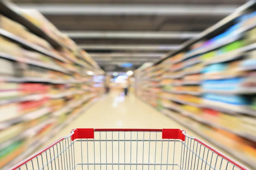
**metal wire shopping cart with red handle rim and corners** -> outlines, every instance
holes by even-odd
[[[249,170],[180,129],[74,129],[10,170]]]

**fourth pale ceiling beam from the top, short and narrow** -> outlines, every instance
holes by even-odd
[[[89,53],[90,57],[96,58],[112,58],[112,57],[143,57],[143,58],[156,58],[161,57],[166,53]]]

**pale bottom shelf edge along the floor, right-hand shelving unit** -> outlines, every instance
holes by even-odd
[[[253,167],[253,168],[256,169],[256,164],[254,164],[254,161],[248,159],[248,157],[243,156],[241,154],[241,152],[233,150],[233,149],[223,145],[221,142],[218,142],[218,140],[215,140],[215,139],[211,138],[210,136],[207,136],[207,134],[201,132],[196,127],[194,127],[194,126],[192,126],[190,124],[187,124],[186,122],[183,122],[180,118],[178,118],[175,115],[175,113],[172,113],[171,111],[163,110],[162,113],[165,114],[166,116],[169,116],[171,119],[173,119],[174,121],[176,121],[179,124],[183,125],[184,127],[188,128],[189,130],[192,130],[195,133],[197,133],[198,135],[202,136],[204,139],[206,139],[207,141],[211,142],[215,146],[219,147],[221,150],[224,150],[225,152],[230,153],[232,156],[234,156],[237,159],[241,160],[243,163],[245,163],[245,164],[249,165],[250,167]]]

